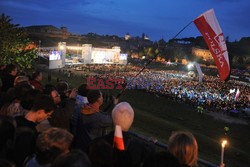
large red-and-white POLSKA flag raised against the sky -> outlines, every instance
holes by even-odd
[[[230,73],[227,46],[220,25],[210,9],[194,20],[214,58],[221,80],[226,80]]]

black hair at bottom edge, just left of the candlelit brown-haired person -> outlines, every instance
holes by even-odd
[[[155,152],[148,156],[143,167],[181,167],[178,159],[169,152]]]

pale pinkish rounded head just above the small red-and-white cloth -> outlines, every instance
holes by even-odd
[[[134,120],[134,110],[127,102],[121,102],[112,110],[114,125],[120,125],[122,131],[128,131]]]

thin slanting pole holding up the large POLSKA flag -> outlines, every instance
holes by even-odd
[[[184,31],[191,23],[193,23],[193,21],[189,22],[185,27],[183,27],[171,40],[176,39],[176,37],[180,33],[182,33],[182,31]],[[140,75],[142,73],[142,71],[159,55],[159,53],[160,52],[155,54],[155,56],[153,58],[149,59],[147,61],[147,63],[141,68],[141,70],[131,79],[131,81],[133,81],[138,75]],[[119,92],[119,94],[115,97],[116,99],[119,98],[122,95],[122,93],[126,90],[126,86],[127,86],[127,84],[122,88],[122,90]],[[113,105],[113,101],[103,111],[106,112],[112,105]]]

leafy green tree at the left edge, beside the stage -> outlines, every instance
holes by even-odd
[[[37,58],[36,49],[29,49],[32,42],[23,28],[12,24],[5,14],[0,16],[0,64],[15,64],[21,69],[31,68]]]

